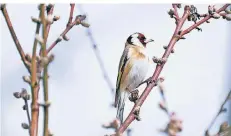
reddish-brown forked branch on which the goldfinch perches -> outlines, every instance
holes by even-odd
[[[220,8],[219,10],[217,10],[217,13],[220,13],[221,11],[224,11],[224,9],[226,9],[229,6],[229,4],[224,5],[222,8]],[[182,16],[182,18],[180,18],[179,22],[177,23],[177,26],[175,28],[174,34],[172,35],[172,38],[168,44],[167,49],[165,50],[165,53],[163,54],[162,58],[168,58],[169,55],[171,54],[171,51],[175,45],[175,43],[185,34],[189,33],[191,30],[195,29],[197,26],[199,26],[200,24],[204,23],[205,21],[209,20],[211,17],[205,17],[203,18],[201,21],[199,21],[198,23],[192,25],[191,27],[189,27],[188,29],[186,29],[185,31],[183,31],[180,36],[179,36],[179,32],[185,22],[185,20],[187,19],[187,17],[189,16],[190,12],[189,12],[190,7],[189,6],[185,6],[184,9],[184,14]],[[134,105],[133,109],[131,110],[131,112],[129,113],[128,117],[126,118],[126,120],[124,121],[124,123],[120,126],[120,128],[118,129],[117,133],[122,134],[127,127],[132,123],[132,121],[135,120],[135,115],[134,115],[134,111],[136,109],[136,107],[138,106],[142,106],[142,104],[144,103],[144,101],[146,100],[147,96],[149,95],[149,93],[151,92],[152,88],[154,86],[156,86],[156,81],[164,67],[165,63],[162,63],[160,65],[156,66],[156,69],[153,73],[152,76],[152,81],[143,91],[142,95],[140,96],[140,98],[138,99],[137,103]]]

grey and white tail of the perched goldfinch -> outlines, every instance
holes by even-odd
[[[124,105],[127,97],[128,97],[128,92],[120,91],[118,96],[118,107],[117,107],[117,115],[116,115],[116,118],[120,120],[120,124],[123,123]]]

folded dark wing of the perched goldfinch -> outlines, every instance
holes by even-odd
[[[122,78],[124,69],[126,65],[128,64],[128,60],[129,60],[128,52],[129,52],[129,48],[125,48],[123,55],[120,58],[119,70],[118,70],[117,82],[116,82],[115,107],[117,106],[117,103],[118,103],[121,78]]]

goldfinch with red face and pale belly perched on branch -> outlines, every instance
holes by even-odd
[[[149,57],[146,53],[146,44],[153,41],[137,32],[130,35],[125,43],[119,63],[115,95],[116,118],[120,120],[120,123],[123,123],[125,100],[129,93],[144,81],[148,72]]]

